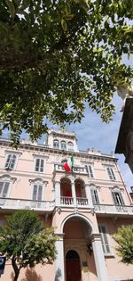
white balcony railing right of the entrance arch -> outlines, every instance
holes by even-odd
[[[106,214],[132,214],[133,206],[125,205],[106,205],[106,204],[95,204],[94,210],[96,213],[106,213]]]

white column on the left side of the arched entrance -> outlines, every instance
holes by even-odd
[[[57,257],[55,260],[54,281],[65,281],[63,235],[58,235],[58,236],[59,236],[59,240],[56,242]]]

